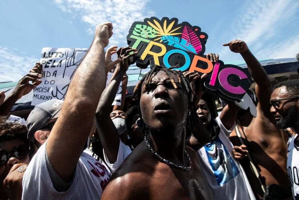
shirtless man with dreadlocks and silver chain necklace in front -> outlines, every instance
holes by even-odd
[[[147,126],[145,141],[112,175],[102,199],[210,199],[196,153],[184,142],[187,118],[195,113],[187,79],[156,66],[136,85],[133,97]]]

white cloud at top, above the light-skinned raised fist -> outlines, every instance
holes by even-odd
[[[94,33],[97,24],[110,21],[113,24],[113,36],[110,45],[126,45],[126,35],[135,21],[154,15],[147,8],[149,0],[55,0],[54,3],[63,11],[79,14],[89,27],[87,32]]]

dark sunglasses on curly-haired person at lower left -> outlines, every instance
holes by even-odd
[[[29,144],[23,144],[23,145],[18,145],[11,152],[1,150],[0,151],[0,165],[3,165],[4,163],[7,162],[7,160],[10,158],[11,155],[16,157],[17,159],[23,159],[26,156],[28,156],[30,152],[30,145]]]

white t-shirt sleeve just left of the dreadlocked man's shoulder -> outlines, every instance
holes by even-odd
[[[107,164],[107,166],[110,168],[111,172],[115,172],[115,170],[118,169],[118,167],[123,163],[123,161],[126,159],[126,157],[131,154],[132,150],[129,148],[129,146],[123,144],[119,140],[119,148],[118,148],[118,154],[117,154],[117,160],[115,163],[111,164],[104,149],[103,149],[103,154],[104,154],[104,159]]]

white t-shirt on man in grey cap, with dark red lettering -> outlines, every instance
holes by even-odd
[[[100,199],[111,172],[105,163],[84,150],[79,158],[74,180],[67,191],[57,192],[53,187],[47,164],[46,143],[30,161],[22,181],[22,199]]]

